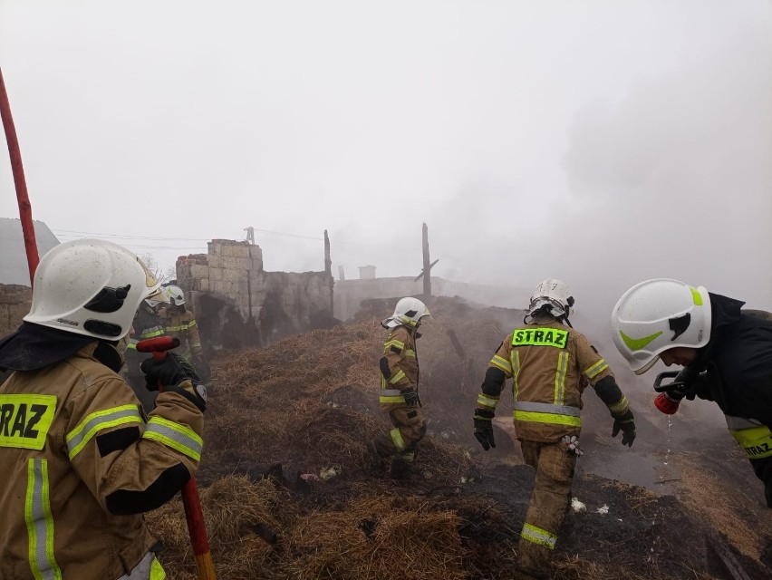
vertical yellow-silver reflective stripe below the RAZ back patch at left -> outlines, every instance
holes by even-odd
[[[27,463],[27,495],[24,521],[29,539],[30,568],[35,580],[62,580],[62,570],[53,557],[53,516],[48,482],[48,461]]]

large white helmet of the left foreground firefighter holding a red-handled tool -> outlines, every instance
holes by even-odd
[[[65,242],[38,264],[24,321],[115,341],[129,333],[142,300],[159,289],[147,266],[124,247],[99,239]]]

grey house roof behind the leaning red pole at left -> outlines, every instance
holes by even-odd
[[[33,223],[38,256],[43,257],[59,240],[42,221]],[[22,221],[17,218],[0,218],[0,284],[31,286]]]

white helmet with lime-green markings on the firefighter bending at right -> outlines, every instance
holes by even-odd
[[[710,340],[710,298],[704,286],[655,278],[625,292],[612,311],[613,343],[632,372],[648,371],[676,346],[701,348]]]

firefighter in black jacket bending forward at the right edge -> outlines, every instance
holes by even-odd
[[[632,286],[612,311],[613,341],[632,372],[661,360],[683,367],[655,399],[660,411],[680,401],[715,401],[772,507],[772,320],[744,302],[669,278]]]

